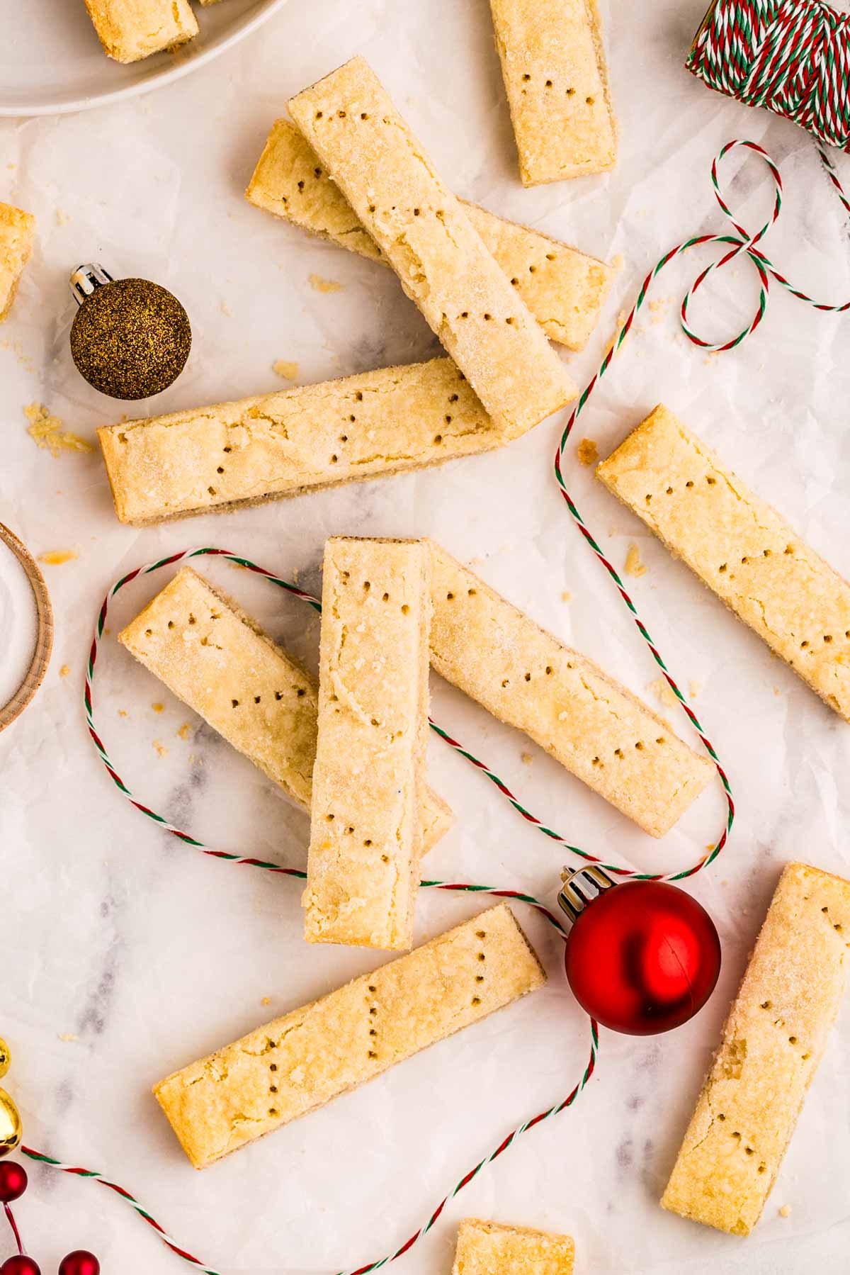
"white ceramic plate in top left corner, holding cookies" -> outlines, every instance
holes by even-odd
[[[103,52],[83,0],[0,0],[0,115],[61,115],[147,93],[223,54],[285,3],[198,6],[199,36],[121,66]]]

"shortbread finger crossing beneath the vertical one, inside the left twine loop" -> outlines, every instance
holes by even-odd
[[[296,805],[310,810],[319,688],[256,621],[185,566],[119,641]],[[426,788],[426,848],[451,821],[442,798]]]

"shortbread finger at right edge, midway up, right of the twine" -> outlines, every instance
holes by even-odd
[[[850,584],[665,407],[596,477],[850,720]]]

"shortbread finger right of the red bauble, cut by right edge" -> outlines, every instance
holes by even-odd
[[[661,1204],[748,1235],[823,1056],[846,980],[850,881],[789,863]]]

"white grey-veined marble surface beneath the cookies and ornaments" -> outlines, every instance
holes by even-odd
[[[31,1145],[124,1183],[223,1275],[336,1271],[390,1251],[507,1130],[566,1095],[585,1065],[587,1023],[562,979],[558,941],[524,914],[552,974],[545,991],[195,1174],[150,1085],[376,958],[306,947],[296,884],[206,859],[122,801],[87,737],[82,705],[106,586],[163,553],[213,543],[316,588],[328,534],[428,534],[650,701],[656,669],[557,493],[557,419],[510,453],[422,476],[145,532],[121,527],[97,453],[55,459],[25,432],[23,408],[34,400],[87,439],[121,417],[121,405],[88,390],[70,363],[66,274],[94,258],[113,274],[158,279],[190,311],[190,365],[139,414],[274,389],[283,384],[273,372],[278,360],[297,362],[310,381],[433,352],[389,272],[241,198],[287,97],[363,52],[459,194],[596,255],[622,255],[589,349],[565,354],[577,380],[591,375],[618,310],[660,252],[724,224],[709,170],[731,136],[763,140],[781,162],[786,201],[770,255],[807,291],[842,300],[850,295],[846,228],[810,140],[711,96],[682,69],[703,6],[605,6],[622,124],[617,171],[530,191],[516,178],[486,0],[363,0],[356,10],[345,0],[293,4],[240,48],[155,94],[0,125],[0,198],[32,209],[40,228],[14,314],[0,329],[0,520],[37,555],[76,555],[45,567],[57,620],[52,666],[34,704],[0,737],[0,1034],[15,1052],[5,1084]],[[847,171],[844,157],[840,167]],[[757,162],[735,158],[724,172],[735,210],[747,224],[761,223],[770,190]],[[595,439],[604,455],[663,399],[846,575],[846,320],[777,296],[749,343],[706,356],[675,324],[677,301],[703,260],[688,254],[658,282],[658,303],[579,435]],[[342,288],[317,292],[313,274]],[[738,264],[693,319],[725,335],[754,297]],[[706,1010],[672,1035],[603,1033],[599,1070],[581,1100],[482,1172],[399,1270],[449,1275],[455,1224],[472,1214],[570,1232],[582,1275],[842,1271],[850,1243],[846,1012],[751,1239],[665,1215],[658,1198],[781,866],[805,857],[850,870],[850,728],[598,490],[575,449],[568,481],[617,565],[631,543],[640,546],[647,572],[632,581],[633,593],[735,789],[731,845],[693,882],[721,932],[723,975]],[[315,660],[317,626],[305,607],[233,567],[210,566],[209,575]],[[302,866],[305,816],[113,640],[164,580],[136,583],[110,616],[97,715],[115,762],[145,802],[198,836]],[[436,678],[433,714],[534,811],[596,853],[669,870],[719,831],[719,785],[655,843]],[[686,728],[677,718],[677,729]],[[428,872],[552,900],[558,850],[437,740],[429,765],[457,826]],[[419,936],[478,907],[426,892]],[[33,1179],[18,1214],[42,1271],[78,1246],[93,1248],[104,1272],[181,1269],[117,1198],[50,1172]],[[782,1205],[789,1216],[779,1215]],[[6,1239],[0,1228],[0,1256]]]

